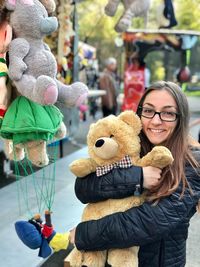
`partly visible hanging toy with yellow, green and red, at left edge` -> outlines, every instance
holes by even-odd
[[[5,112],[8,108],[10,100],[10,90],[6,86],[8,69],[6,65],[6,52],[8,45],[12,39],[12,29],[8,24],[7,14],[3,8],[3,3],[0,6],[0,125]]]

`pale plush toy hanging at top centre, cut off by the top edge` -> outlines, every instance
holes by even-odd
[[[125,32],[131,26],[134,17],[144,17],[145,27],[147,26],[151,0],[109,0],[105,6],[105,14],[113,17],[120,3],[124,6],[124,13],[115,25],[117,32]]]

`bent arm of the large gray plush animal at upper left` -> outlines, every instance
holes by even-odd
[[[20,80],[23,72],[27,69],[27,65],[24,63],[23,59],[28,54],[29,49],[29,43],[23,38],[16,38],[11,42],[9,48],[9,77],[12,80]]]

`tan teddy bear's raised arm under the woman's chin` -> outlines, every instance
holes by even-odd
[[[162,169],[172,164],[173,160],[173,156],[168,148],[164,146],[155,146],[147,155],[139,159],[136,164]]]

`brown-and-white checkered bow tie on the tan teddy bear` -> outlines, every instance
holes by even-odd
[[[131,157],[126,155],[123,159],[121,159],[118,162],[115,162],[113,164],[109,164],[106,166],[99,166],[96,168],[96,175],[97,176],[102,176],[106,173],[108,173],[109,171],[111,171],[114,168],[129,168],[131,167],[132,161],[131,161]]]

